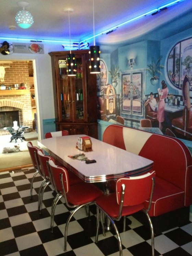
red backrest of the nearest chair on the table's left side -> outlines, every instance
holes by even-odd
[[[62,191],[60,173],[63,173],[63,184],[65,193],[67,194],[69,191],[69,178],[67,170],[62,166],[57,166],[52,158],[49,159],[49,170],[54,184],[54,188],[57,191],[57,193],[60,193]]]

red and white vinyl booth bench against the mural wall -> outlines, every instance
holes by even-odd
[[[148,213],[157,224],[156,233],[189,221],[192,156],[182,141],[118,125],[106,128],[103,141],[154,161],[155,188]]]

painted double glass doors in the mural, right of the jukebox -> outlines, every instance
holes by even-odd
[[[122,75],[122,112],[142,114],[143,72]]]

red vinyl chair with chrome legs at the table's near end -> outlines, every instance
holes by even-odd
[[[116,182],[116,192],[98,197],[95,201],[97,206],[97,233],[95,242],[98,242],[99,231],[99,212],[101,212],[101,223],[103,222],[103,214],[111,221],[119,243],[119,255],[122,256],[122,244],[119,231],[115,221],[119,221],[121,217],[129,216],[135,212],[142,210],[149,221],[151,229],[151,246],[152,256],[154,256],[154,232],[151,218],[148,211],[151,208],[153,188],[154,188],[155,171],[149,172],[141,176],[132,176],[127,178],[119,178]],[[103,227],[103,223],[102,223]],[[103,233],[105,231],[103,228]]]

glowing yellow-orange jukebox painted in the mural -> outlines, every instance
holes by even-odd
[[[111,84],[104,86],[104,98],[106,101],[106,117],[116,117],[116,94]]]

